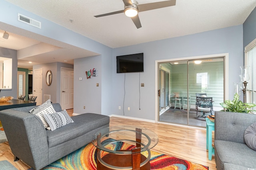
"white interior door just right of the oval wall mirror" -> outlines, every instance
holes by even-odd
[[[61,68],[61,108],[74,107],[74,70]]]

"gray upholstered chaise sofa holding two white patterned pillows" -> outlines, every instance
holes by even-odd
[[[52,104],[61,111],[60,104]],[[36,106],[0,111],[0,119],[14,156],[39,170],[91,142],[94,133],[109,126],[109,117],[94,113],[72,116],[70,123],[47,131],[29,111]]]

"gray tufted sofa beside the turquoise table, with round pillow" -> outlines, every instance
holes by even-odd
[[[215,111],[215,161],[217,170],[256,170],[256,151],[244,140],[256,115]]]

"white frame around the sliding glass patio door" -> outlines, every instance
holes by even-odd
[[[159,110],[159,97],[158,97],[158,89],[159,89],[159,65],[160,63],[168,63],[172,61],[180,61],[180,60],[195,60],[195,59],[207,59],[207,58],[219,58],[224,57],[224,100],[228,98],[228,53],[214,54],[214,55],[202,55],[202,56],[194,56],[194,57],[184,57],[184,58],[175,58],[175,59],[164,59],[164,60],[156,60],[155,61],[155,122],[161,123],[159,121],[158,114]],[[172,123],[170,123],[172,124]],[[175,125],[175,124],[174,124]]]

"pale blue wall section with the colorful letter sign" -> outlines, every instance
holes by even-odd
[[[75,113],[101,113],[102,102],[102,57],[100,55],[94,57],[86,57],[76,59],[74,61],[74,88],[79,89],[80,100],[75,99]],[[86,71],[93,68],[97,70],[97,76],[87,79]],[[82,80],[79,80],[82,78]],[[99,84],[97,87],[96,84]],[[90,104],[90,106],[88,105]],[[84,106],[86,109],[84,109]]]

